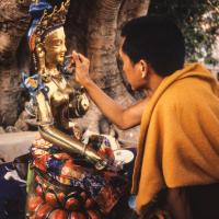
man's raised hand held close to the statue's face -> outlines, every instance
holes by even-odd
[[[91,82],[91,78],[89,76],[90,60],[85,58],[82,54],[72,53],[72,59],[76,64],[76,80],[87,88],[87,85]]]

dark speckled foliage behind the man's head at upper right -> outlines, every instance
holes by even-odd
[[[151,0],[149,14],[170,16],[181,27],[187,60],[217,62],[212,47],[219,35],[218,0]]]

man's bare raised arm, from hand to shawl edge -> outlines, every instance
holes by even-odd
[[[73,51],[72,59],[76,64],[77,81],[87,89],[92,101],[112,123],[120,129],[131,128],[140,124],[147,99],[128,108],[124,108],[92,81],[89,74],[90,60],[88,58]]]

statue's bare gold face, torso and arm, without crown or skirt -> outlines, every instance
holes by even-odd
[[[96,169],[103,169],[106,162],[94,150],[62,131],[70,128],[70,114],[80,117],[89,108],[84,91],[71,88],[57,68],[62,64],[66,50],[64,27],[47,34],[35,50],[38,72],[48,90],[48,100],[42,91],[36,94],[39,132],[45,140],[59,146],[64,151],[84,155],[95,164]]]

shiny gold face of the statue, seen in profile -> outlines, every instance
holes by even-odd
[[[64,27],[49,33],[44,41],[46,65],[57,66],[64,62],[66,49],[66,34]]]

